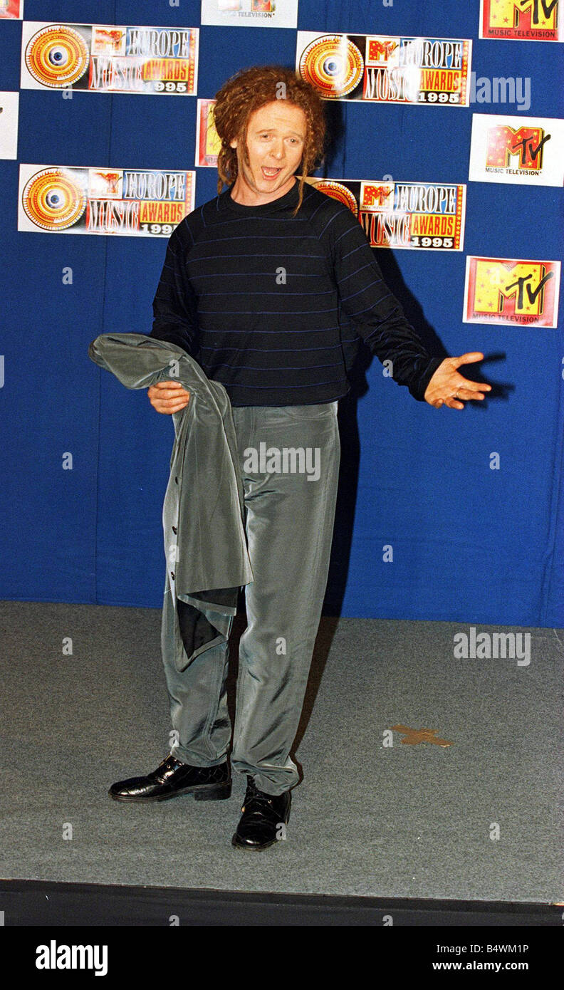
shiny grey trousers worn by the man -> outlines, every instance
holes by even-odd
[[[268,794],[298,782],[290,756],[329,571],[340,444],[337,403],[233,408],[254,581],[238,655],[232,766]],[[233,625],[233,620],[232,620]],[[183,671],[165,663],[175,742],[195,766],[223,762],[232,726],[229,644]]]

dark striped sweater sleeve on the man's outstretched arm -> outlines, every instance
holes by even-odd
[[[442,358],[432,357],[386,285],[374,251],[358,220],[339,210],[329,235],[340,304],[358,335],[382,362],[392,361],[392,377],[423,402],[428,382]]]

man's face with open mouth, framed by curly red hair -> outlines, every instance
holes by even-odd
[[[237,141],[237,185],[247,187],[262,202],[277,199],[295,183],[294,172],[302,160],[307,121],[304,111],[287,100],[273,100],[255,110],[248,119],[244,161]]]

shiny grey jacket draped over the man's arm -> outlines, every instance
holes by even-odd
[[[228,393],[181,347],[144,334],[101,334],[88,356],[126,388],[179,381],[190,392],[172,414],[174,444],[162,507],[167,561],[161,647],[178,670],[226,643],[238,590],[253,580]]]

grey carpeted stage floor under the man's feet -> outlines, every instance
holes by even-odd
[[[564,902],[561,630],[513,630],[525,666],[454,658],[464,624],[323,618],[304,780],[286,841],[260,853],[231,846],[242,776],[229,801],[108,797],[168,752],[159,632],[155,609],[0,602],[0,877]]]

